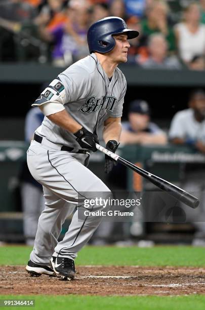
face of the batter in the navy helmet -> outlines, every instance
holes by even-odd
[[[110,58],[113,62],[127,62],[128,59],[128,49],[130,48],[130,44],[128,42],[127,34],[119,34],[113,36],[115,40],[115,47],[113,50],[107,54],[109,54]]]

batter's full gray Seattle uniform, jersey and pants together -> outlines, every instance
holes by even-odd
[[[91,54],[59,74],[33,105],[49,102],[63,104],[79,124],[100,134],[107,118],[121,117],[125,93],[126,79],[122,72],[116,68],[109,81],[96,55]],[[27,164],[32,176],[43,185],[46,203],[39,217],[30,260],[37,264],[49,264],[52,255],[75,259],[102,217],[87,216],[84,221],[78,221],[78,210],[84,210],[78,205],[68,231],[63,240],[58,242],[62,223],[82,196],[87,199],[98,196],[106,198],[110,190],[86,167],[89,153],[61,150],[62,144],[81,148],[73,134],[47,117],[36,133],[43,139],[41,143],[35,140],[31,142]],[[99,206],[94,206],[95,209],[99,210]]]

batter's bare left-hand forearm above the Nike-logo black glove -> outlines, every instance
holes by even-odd
[[[75,133],[80,128],[82,128],[82,126],[77,123],[65,109],[60,112],[48,115],[47,118],[56,125],[60,126],[63,129],[66,129],[71,133]]]

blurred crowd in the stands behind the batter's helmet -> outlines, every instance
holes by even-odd
[[[89,54],[87,30],[107,16],[140,32],[129,63],[204,70],[205,0],[2,0],[0,61],[68,66]]]

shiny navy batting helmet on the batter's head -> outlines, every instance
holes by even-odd
[[[110,52],[115,46],[113,35],[127,34],[128,39],[137,37],[139,32],[128,29],[126,22],[115,16],[106,17],[98,20],[88,30],[88,46],[90,53]]]

